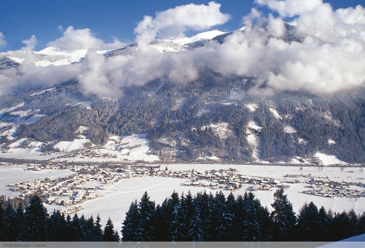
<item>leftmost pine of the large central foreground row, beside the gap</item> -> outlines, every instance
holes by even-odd
[[[138,203],[137,200],[131,203],[126,213],[126,219],[123,221],[122,226],[122,241],[135,241],[135,233],[137,232],[138,221]]]

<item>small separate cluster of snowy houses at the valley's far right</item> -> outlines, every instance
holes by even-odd
[[[310,189],[303,191],[303,193],[323,197],[365,197],[365,191],[351,189],[351,184],[353,185],[354,183],[315,180],[308,186]]]

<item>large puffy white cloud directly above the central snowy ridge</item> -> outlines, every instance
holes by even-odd
[[[210,2],[208,5],[187,4],[157,12],[155,19],[145,16],[135,28],[138,45],[148,44],[156,36],[175,38],[184,36],[188,29],[203,30],[226,23],[230,15],[220,12],[220,4]]]

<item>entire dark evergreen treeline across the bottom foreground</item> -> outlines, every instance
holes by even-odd
[[[283,189],[274,193],[273,211],[250,193],[225,197],[176,192],[155,205],[145,192],[131,203],[119,232],[109,218],[47,213],[41,197],[27,202],[0,197],[0,241],[337,241],[365,233],[365,213],[333,213],[305,203],[295,215]]]

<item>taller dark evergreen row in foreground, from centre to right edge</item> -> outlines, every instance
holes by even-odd
[[[273,211],[253,193],[227,198],[190,191],[173,192],[161,205],[145,192],[131,203],[123,221],[122,241],[337,241],[365,233],[365,212],[342,213],[305,203],[295,215],[283,189],[274,193]]]

